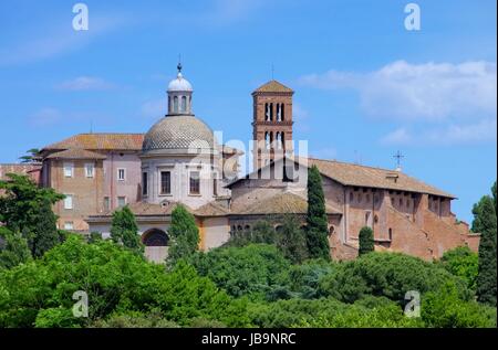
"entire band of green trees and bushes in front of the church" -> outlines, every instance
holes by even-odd
[[[475,208],[473,229],[483,233],[479,256],[459,247],[437,262],[371,250],[349,262],[330,262],[329,255],[307,259],[321,255],[317,253],[323,246],[310,250],[310,231],[304,235],[291,216],[277,230],[259,222],[251,232],[203,253],[197,252],[194,218],[178,205],[168,231],[173,258],[153,264],[136,254],[137,227],[127,208],[114,216],[113,240],[98,233],[84,240],[53,230],[49,198],[56,200],[55,193],[33,189],[24,178],[1,184],[10,190],[0,198],[7,223],[0,226],[0,327],[497,325],[496,307],[489,306],[496,304],[496,275],[492,280],[486,269],[495,268],[496,274],[496,251],[492,255],[489,248],[496,248],[490,197]],[[31,208],[33,216],[24,216],[21,208]],[[321,215],[321,210],[313,212]],[[421,296],[419,317],[404,312],[407,291]],[[82,293],[87,296],[87,317],[73,310]]]

